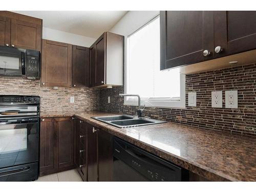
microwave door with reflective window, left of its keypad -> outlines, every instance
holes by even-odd
[[[0,75],[20,76],[25,73],[25,53],[9,47],[0,47]]]

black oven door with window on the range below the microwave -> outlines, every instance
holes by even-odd
[[[38,161],[39,118],[0,119],[0,168]]]

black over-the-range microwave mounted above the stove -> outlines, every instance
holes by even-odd
[[[40,52],[0,46],[0,75],[40,79]]]

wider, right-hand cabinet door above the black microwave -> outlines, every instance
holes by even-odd
[[[11,19],[11,46],[41,51],[41,37],[40,25]]]

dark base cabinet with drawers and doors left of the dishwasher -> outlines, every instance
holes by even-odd
[[[74,119],[75,162],[83,181],[112,180],[112,135],[98,127]]]

